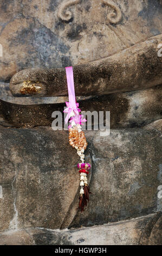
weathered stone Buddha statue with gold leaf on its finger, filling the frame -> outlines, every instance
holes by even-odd
[[[97,245],[86,230],[100,244],[160,244],[161,1],[8,2],[0,3],[0,244],[13,234],[25,237],[16,244],[46,244],[50,234],[50,244]],[[109,136],[85,131],[92,194],[83,213],[79,159],[67,131],[51,129],[68,99],[69,65],[82,110],[111,114]]]

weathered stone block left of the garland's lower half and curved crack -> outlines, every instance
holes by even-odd
[[[68,133],[1,127],[0,136],[0,230],[60,228],[68,211],[71,222],[80,181]]]

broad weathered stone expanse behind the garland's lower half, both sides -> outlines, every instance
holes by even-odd
[[[107,137],[86,132],[92,195],[81,214],[79,158],[67,132],[48,127],[0,130],[1,231],[99,225],[160,211],[159,131],[111,130]]]

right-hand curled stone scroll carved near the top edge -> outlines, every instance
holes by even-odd
[[[116,11],[116,13],[112,11],[111,13],[107,14],[108,21],[113,24],[118,23],[122,18],[121,10],[118,5],[116,5],[112,0],[102,0],[102,2],[112,7]]]

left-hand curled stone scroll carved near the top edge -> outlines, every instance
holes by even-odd
[[[60,19],[63,21],[69,21],[70,19],[72,19],[71,11],[66,10],[66,12],[64,13],[64,10],[70,7],[71,5],[79,3],[79,1],[80,0],[69,0],[69,1],[63,2],[57,13],[58,17],[60,17]]]

